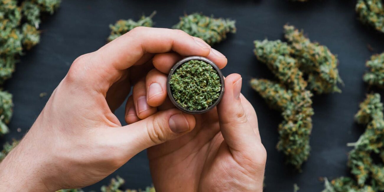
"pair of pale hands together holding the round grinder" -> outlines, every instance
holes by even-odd
[[[0,164],[0,191],[55,191],[98,182],[148,149],[156,191],[263,190],[266,151],[255,110],[225,78],[217,108],[192,115],[167,98],[185,56],[227,58],[180,30],[138,27],[77,58],[20,144]],[[113,114],[128,96],[127,126]]]

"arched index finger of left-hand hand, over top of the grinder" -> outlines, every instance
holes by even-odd
[[[181,30],[137,27],[99,50],[77,59],[71,66],[68,79],[97,84],[100,91],[106,92],[117,81],[121,70],[134,65],[144,54],[169,51],[182,56],[206,57],[210,53],[210,46]]]

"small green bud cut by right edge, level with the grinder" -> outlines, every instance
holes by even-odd
[[[370,85],[384,86],[384,53],[372,55],[366,66],[369,71],[364,74],[363,79]]]

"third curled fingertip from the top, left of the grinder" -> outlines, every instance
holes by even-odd
[[[132,96],[137,117],[144,119],[156,113],[156,108],[149,106],[147,103],[147,91],[144,79],[141,79],[133,86]]]

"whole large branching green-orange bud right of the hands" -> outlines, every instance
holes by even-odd
[[[284,26],[288,43],[254,41],[254,53],[279,82],[252,79],[251,86],[272,107],[282,112],[278,151],[297,169],[308,159],[312,129],[312,93],[340,92],[337,59],[328,48],[312,43],[293,26]],[[306,75],[306,78],[304,77]],[[309,89],[309,90],[306,90]]]

